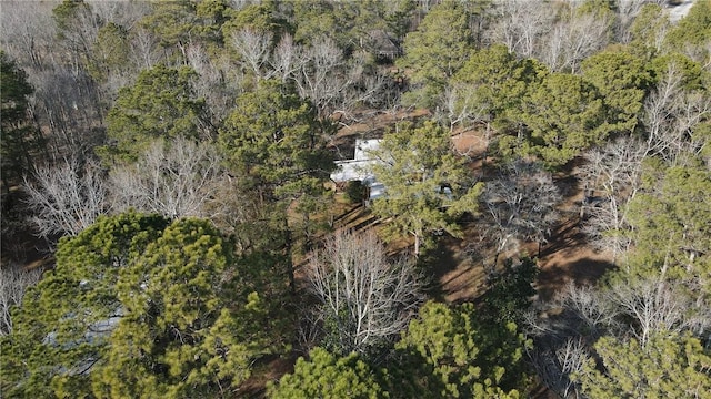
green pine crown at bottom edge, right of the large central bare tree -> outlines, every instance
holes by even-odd
[[[519,398],[523,352],[530,345],[515,324],[483,321],[472,304],[428,303],[397,348],[422,398]]]

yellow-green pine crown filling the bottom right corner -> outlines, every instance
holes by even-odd
[[[711,398],[711,357],[695,338],[661,332],[641,346],[603,337],[594,347],[604,368],[590,359],[574,376],[591,399]]]

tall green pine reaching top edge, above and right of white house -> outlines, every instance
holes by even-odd
[[[418,105],[430,106],[472,51],[469,17],[458,1],[435,6],[404,40],[398,65],[421,88]]]

